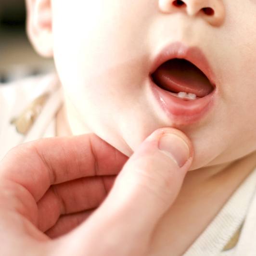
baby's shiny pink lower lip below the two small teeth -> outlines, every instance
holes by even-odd
[[[150,87],[156,101],[166,115],[177,125],[187,125],[199,121],[213,107],[217,97],[217,88],[203,98],[183,100],[173,96],[167,90],[157,86],[150,77]]]

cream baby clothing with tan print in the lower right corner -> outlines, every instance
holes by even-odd
[[[256,255],[256,168],[184,256]]]

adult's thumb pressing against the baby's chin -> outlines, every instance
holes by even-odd
[[[181,131],[154,131],[123,167],[102,210],[112,209],[115,219],[150,231],[175,201],[192,154],[192,143]]]

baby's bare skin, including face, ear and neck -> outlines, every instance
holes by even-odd
[[[151,248],[183,254],[256,166],[256,2],[26,3],[29,38],[64,91],[58,136],[93,132],[128,157],[158,128],[192,141]]]

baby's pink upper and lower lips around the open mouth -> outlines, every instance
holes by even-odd
[[[151,74],[153,74],[161,64],[174,58],[185,59],[196,65],[204,72],[205,76],[208,77],[214,90],[203,98],[185,101],[157,86],[154,83]],[[189,48],[180,42],[175,42],[165,47],[155,58],[150,72],[150,85],[154,97],[170,119],[177,125],[194,123],[201,119],[212,108],[218,95],[218,88],[215,85],[215,80],[215,75],[212,72],[204,53],[197,47]]]

